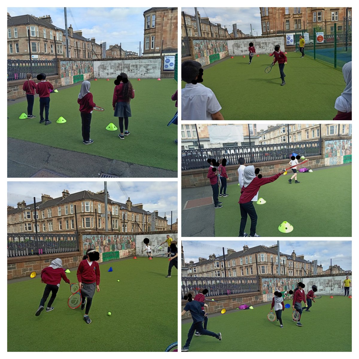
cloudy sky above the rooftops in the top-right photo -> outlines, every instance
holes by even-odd
[[[187,14],[195,14],[195,8],[181,9]],[[228,32],[233,32],[233,24],[237,24],[237,29],[242,30],[245,34],[251,33],[253,36],[261,36],[261,13],[259,7],[257,8],[198,8],[197,11],[201,17],[209,17],[209,20],[215,24],[221,24],[227,27]],[[254,30],[253,30],[254,29]]]

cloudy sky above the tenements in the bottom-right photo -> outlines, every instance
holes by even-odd
[[[198,262],[198,257],[208,258],[209,255],[227,254],[227,248],[243,251],[243,246],[249,248],[263,245],[266,247],[277,244],[277,241],[182,241],[185,260]],[[332,265],[340,265],[345,270],[351,270],[351,241],[279,241],[280,252],[291,255],[304,255],[307,261],[318,260],[323,269],[328,269],[330,258]],[[186,250],[187,249],[187,250]]]

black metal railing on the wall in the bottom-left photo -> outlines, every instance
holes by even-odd
[[[73,233],[8,234],[8,258],[78,251],[79,238]]]

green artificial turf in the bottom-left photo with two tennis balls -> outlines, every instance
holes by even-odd
[[[55,309],[38,317],[45,288],[40,276],[9,284],[8,351],[164,351],[177,341],[177,270],[173,267],[172,278],[165,278],[167,258],[105,262],[100,271],[89,325],[84,311],[67,306],[71,292],[64,281]],[[66,275],[78,282],[76,270]]]

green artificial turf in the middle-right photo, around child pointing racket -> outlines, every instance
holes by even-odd
[[[266,203],[255,206],[256,232],[261,237],[350,237],[351,236],[351,165],[297,173],[300,183],[288,183],[293,172],[261,186],[259,198]],[[227,186],[228,197],[219,197],[223,207],[215,211],[215,236],[237,237],[241,222],[238,183]],[[279,225],[287,221],[294,229],[282,233]],[[250,233],[247,218],[244,232]]]

